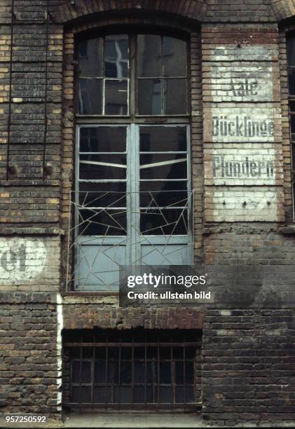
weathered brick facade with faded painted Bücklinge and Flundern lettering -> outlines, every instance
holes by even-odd
[[[294,309],[125,309],[66,290],[74,38],[114,25],[190,34],[195,261],[294,265],[294,1],[0,0],[0,411],[61,417],[62,329],[181,328],[203,329],[204,421],[295,421]]]

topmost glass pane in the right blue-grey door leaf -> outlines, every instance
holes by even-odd
[[[186,151],[186,127],[140,127],[142,152]]]

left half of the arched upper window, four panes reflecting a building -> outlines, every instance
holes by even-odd
[[[79,43],[78,69],[79,114],[128,114],[128,35],[116,34]]]

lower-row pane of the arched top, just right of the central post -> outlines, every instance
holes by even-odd
[[[139,115],[160,115],[161,83],[160,79],[138,79],[137,104]]]

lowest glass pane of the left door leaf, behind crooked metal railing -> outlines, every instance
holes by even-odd
[[[80,210],[78,224],[82,236],[125,236],[126,210]]]

